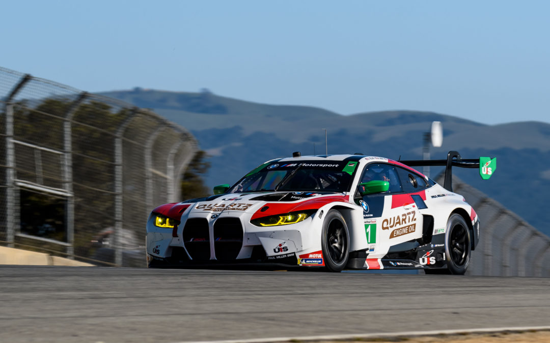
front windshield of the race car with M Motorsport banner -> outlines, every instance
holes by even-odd
[[[344,172],[343,161],[303,161],[295,164],[276,162],[244,177],[228,193],[300,191],[346,192],[351,175]]]

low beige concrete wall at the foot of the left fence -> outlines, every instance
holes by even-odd
[[[50,256],[42,252],[7,248],[5,246],[0,246],[0,265],[94,266],[90,263],[70,260],[69,258]]]

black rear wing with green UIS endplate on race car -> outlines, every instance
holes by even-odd
[[[443,188],[453,192],[453,167],[479,168],[481,178],[487,180],[497,169],[497,158],[480,157],[479,159],[463,159],[458,151],[449,151],[447,160],[409,160],[399,161],[409,167],[445,166],[445,182]]]

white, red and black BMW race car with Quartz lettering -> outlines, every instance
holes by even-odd
[[[481,163],[480,163],[481,161]],[[444,187],[410,166],[445,166]],[[464,274],[480,239],[452,192],[452,166],[492,175],[496,159],[394,161],[365,155],[275,159],[215,195],[166,204],[147,221],[149,267],[277,263]]]

